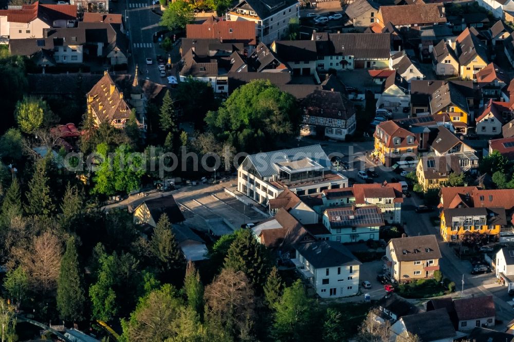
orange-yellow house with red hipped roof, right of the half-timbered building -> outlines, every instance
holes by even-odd
[[[387,167],[392,166],[401,158],[416,156],[418,141],[414,134],[401,128],[394,121],[386,121],[375,129],[375,150],[373,156]]]

